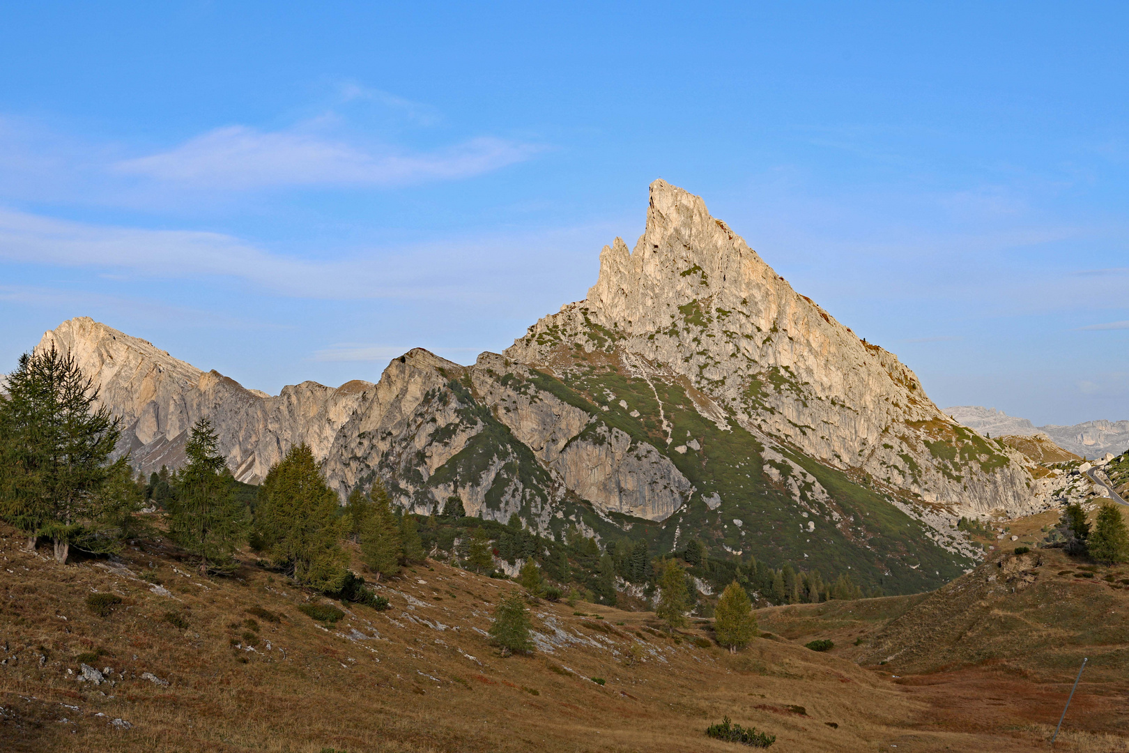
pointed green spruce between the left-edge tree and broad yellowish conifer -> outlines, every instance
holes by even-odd
[[[247,508],[235,498],[231,472],[208,419],[192,427],[184,453],[189,462],[176,473],[169,535],[200,560],[201,575],[230,572],[233,555],[246,542],[251,522]]]

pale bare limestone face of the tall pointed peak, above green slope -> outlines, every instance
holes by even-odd
[[[605,246],[588,297],[506,356],[567,380],[578,352],[606,353],[627,376],[684,380],[719,427],[926,505],[982,514],[1035,504],[1022,456],[942,413],[895,356],[793,290],[701,198],[663,181],[634,249],[620,238]]]

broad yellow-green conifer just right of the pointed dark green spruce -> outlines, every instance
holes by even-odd
[[[275,566],[323,592],[341,589],[349,555],[341,549],[348,518],[314,454],[295,445],[259,487],[255,532]]]

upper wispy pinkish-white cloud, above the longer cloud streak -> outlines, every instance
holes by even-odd
[[[180,147],[116,163],[113,169],[196,189],[314,185],[392,186],[471,177],[528,159],[539,147],[476,138],[431,152],[366,148],[299,129],[229,125]]]

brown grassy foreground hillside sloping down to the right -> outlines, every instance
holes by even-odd
[[[0,528],[5,751],[743,750],[703,735],[726,715],[777,735],[773,751],[1025,751],[1049,734],[1004,710],[970,726],[920,688],[784,638],[730,656],[704,625],[669,638],[650,613],[585,603],[533,604],[539,650],[501,658],[483,632],[516,586],[438,563],[378,587],[390,610],[342,606],[330,625],[298,608],[327,602],[250,563],[201,579],[137,542],[61,567],[14,534]],[[98,616],[96,593],[122,602]],[[105,681],[78,681],[80,662]],[[1060,747],[1123,750],[1108,729],[1076,725]]]

